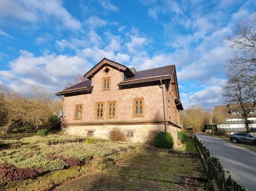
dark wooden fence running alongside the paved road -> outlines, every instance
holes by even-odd
[[[236,181],[231,178],[231,174],[225,171],[217,158],[206,149],[203,142],[195,135],[195,141],[198,146],[198,150],[205,163],[207,176],[214,180],[219,191],[248,191],[248,189],[240,186]]]

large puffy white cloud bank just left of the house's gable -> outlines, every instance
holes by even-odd
[[[51,87],[51,91],[63,89],[66,81],[72,81],[78,74],[91,69],[91,63],[79,55],[46,54],[34,56],[33,53],[20,51],[20,56],[9,62],[10,70],[0,71],[0,80],[16,91],[30,84]]]

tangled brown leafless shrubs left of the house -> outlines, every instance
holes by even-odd
[[[31,132],[42,128],[59,128],[60,119],[54,116],[62,109],[62,100],[32,87],[25,97],[0,85],[0,133]]]

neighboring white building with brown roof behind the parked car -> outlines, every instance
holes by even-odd
[[[241,114],[242,110],[238,105],[215,106],[214,123],[227,132],[243,132],[246,131],[246,125]],[[250,112],[248,122],[250,130],[256,131],[256,108]]]

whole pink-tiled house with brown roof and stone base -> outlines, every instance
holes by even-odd
[[[132,142],[147,142],[156,130],[177,138],[183,107],[174,65],[136,71],[104,58],[84,77],[56,93],[64,96],[66,133],[108,138],[118,127]]]

